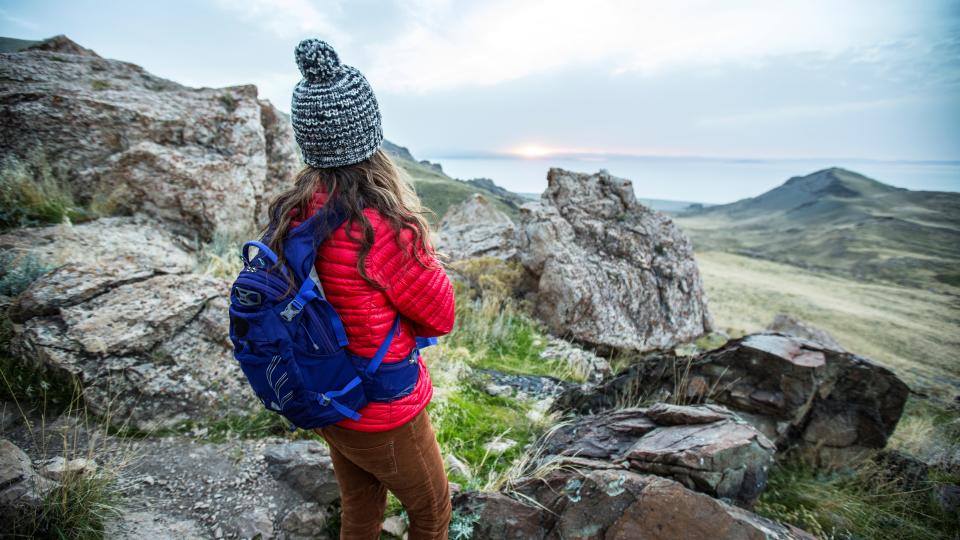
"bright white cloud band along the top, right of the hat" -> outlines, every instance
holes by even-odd
[[[841,54],[925,30],[909,3],[741,0],[418,1],[391,38],[366,46],[388,91],[492,85],[604,62],[615,73]]]

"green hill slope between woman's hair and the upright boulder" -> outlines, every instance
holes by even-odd
[[[413,179],[413,186],[420,200],[435,214],[430,218],[433,223],[439,223],[450,206],[467,200],[474,193],[487,197],[513,219],[520,215],[519,209],[524,199],[497,186],[492,180],[463,181],[450,178],[439,165],[429,161],[417,161],[410,150],[403,146],[384,141],[383,148]]]

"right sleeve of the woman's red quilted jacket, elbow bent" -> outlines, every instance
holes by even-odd
[[[448,334],[453,329],[454,295],[443,267],[431,253],[413,245],[410,230],[401,230],[400,245],[397,245],[387,223],[377,223],[375,227],[367,272],[386,286],[387,298],[401,315],[414,323],[417,335]],[[414,249],[419,251],[426,267],[414,258]]]

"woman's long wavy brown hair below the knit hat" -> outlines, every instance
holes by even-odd
[[[291,222],[295,218],[304,220],[309,217],[309,204],[318,188],[323,188],[329,194],[326,204],[337,204],[346,213],[347,236],[360,244],[357,271],[372,287],[379,290],[386,288],[367,274],[365,265],[373,246],[374,230],[363,213],[366,208],[378,211],[389,223],[403,253],[412,255],[418,264],[428,267],[422,254],[433,254],[434,251],[424,208],[409,176],[382,149],[377,149],[372,156],[354,165],[326,169],[307,166],[297,173],[294,185],[270,203],[270,222],[262,234],[267,245],[280,258],[278,264],[285,262],[283,241]],[[295,213],[292,212],[294,208],[297,209]],[[412,246],[400,244],[400,232],[403,229],[413,233]],[[290,286],[293,287],[292,281]]]

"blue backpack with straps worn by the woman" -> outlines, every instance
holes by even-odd
[[[400,328],[398,313],[373,358],[347,352],[343,323],[314,267],[317,248],[346,220],[340,208],[327,206],[288,232],[283,265],[266,245],[269,233],[245,243],[244,268],[230,291],[234,358],[263,405],[302,429],[359,420],[367,403],[409,394],[420,373],[419,349],[436,343],[417,338],[406,360],[382,364]]]

